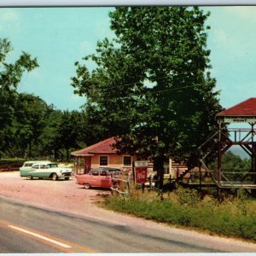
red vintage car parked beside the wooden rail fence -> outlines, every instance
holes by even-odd
[[[77,183],[84,186],[85,189],[90,187],[111,188],[118,187],[119,181],[117,177],[121,174],[121,170],[110,167],[93,168],[86,174],[77,175]]]

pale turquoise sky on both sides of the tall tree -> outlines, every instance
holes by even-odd
[[[212,77],[217,79],[224,108],[256,97],[256,7],[205,7],[211,12],[207,47]],[[112,37],[111,8],[2,8],[0,35],[9,38],[15,61],[22,50],[38,57],[39,66],[26,73],[19,91],[40,96],[63,110],[79,109],[84,98],[73,94],[70,78],[75,61],[95,52],[96,42]]]

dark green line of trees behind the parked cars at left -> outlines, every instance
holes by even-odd
[[[25,52],[9,63],[11,50],[9,40],[0,39],[0,159],[69,160],[72,150],[102,138],[89,132],[84,111],[62,111],[39,96],[19,93],[22,75],[39,65]]]

